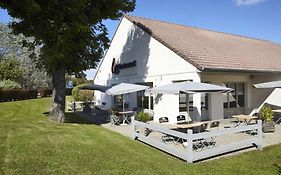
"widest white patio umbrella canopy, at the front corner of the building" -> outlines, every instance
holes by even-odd
[[[208,92],[230,92],[233,89],[225,86],[219,86],[208,83],[199,83],[185,81],[180,83],[172,83],[168,85],[158,86],[151,89],[152,93],[156,94],[179,94],[180,92],[185,93],[208,93]]]

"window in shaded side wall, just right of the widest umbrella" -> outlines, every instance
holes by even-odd
[[[224,94],[224,108],[237,108],[245,106],[245,83],[225,83],[226,87],[234,89]]]

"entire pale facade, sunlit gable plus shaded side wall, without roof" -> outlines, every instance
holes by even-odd
[[[113,58],[118,64],[136,61],[136,66],[120,69],[119,74],[111,71]],[[153,86],[170,84],[176,81],[192,80],[194,82],[209,82],[222,85],[225,82],[244,82],[245,107],[242,112],[248,112],[266,98],[264,90],[252,88],[252,83],[264,80],[278,79],[276,76],[260,76],[250,74],[230,73],[201,73],[196,67],[188,63],[179,55],[171,51],[162,43],[151,37],[148,33],[123,18],[111,42],[105,57],[94,79],[95,84],[114,85],[119,83],[151,82]],[[267,93],[270,93],[268,91]],[[255,95],[253,95],[255,94]],[[95,92],[99,102],[105,102],[107,108],[113,106],[113,97],[101,92]],[[171,123],[176,122],[179,115],[178,95],[157,95],[153,98],[154,120],[159,117],[168,117]],[[137,107],[137,94],[125,95],[129,108]],[[198,110],[199,109],[199,110]],[[214,120],[224,117],[223,95],[209,94],[208,111],[201,113],[201,94],[193,95],[193,120]]]

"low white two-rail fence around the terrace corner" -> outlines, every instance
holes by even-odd
[[[157,125],[148,124],[134,120],[131,118],[132,124],[132,138],[145,142],[153,147],[161,149],[167,153],[170,153],[176,157],[179,157],[187,162],[194,162],[197,160],[205,159],[208,157],[228,153],[231,151],[247,148],[255,145],[259,150],[262,150],[262,121],[258,120],[257,124],[237,126],[234,128],[224,128],[216,131],[193,133],[192,130],[187,130],[187,133],[171,130],[169,128]],[[143,130],[148,129],[153,132],[159,132],[161,134],[169,135],[174,138],[180,138],[184,140],[185,148],[179,149],[173,144],[166,144],[161,139],[157,140],[149,136],[145,136]],[[249,137],[235,141],[234,143],[228,143],[223,145],[215,145],[208,147],[207,149],[201,149],[200,151],[194,150],[194,142],[196,140],[203,140],[207,138],[216,138],[218,136],[230,135],[241,132],[255,132],[255,135],[248,134]]]

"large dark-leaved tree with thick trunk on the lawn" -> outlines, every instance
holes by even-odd
[[[16,18],[14,33],[34,37],[25,45],[40,45],[54,87],[50,119],[64,122],[65,73],[96,67],[109,43],[102,21],[132,11],[135,0],[1,0],[0,6]]]

